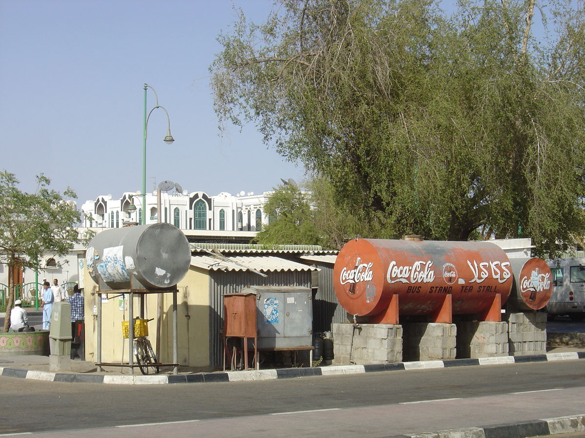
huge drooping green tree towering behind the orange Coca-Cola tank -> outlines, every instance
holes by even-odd
[[[450,17],[431,0],[286,1],[219,37],[215,109],[328,178],[364,237],[483,230],[556,251],[585,231],[585,29],[567,4],[541,37],[534,0]]]

